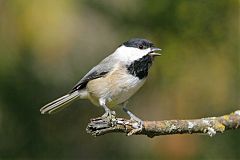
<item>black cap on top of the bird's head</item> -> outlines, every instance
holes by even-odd
[[[126,47],[134,47],[139,49],[147,49],[150,47],[154,47],[154,44],[151,41],[141,38],[130,39],[127,42],[124,42],[123,45]]]

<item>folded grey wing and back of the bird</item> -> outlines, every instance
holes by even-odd
[[[81,90],[86,87],[87,83],[96,78],[100,78],[109,73],[113,66],[117,63],[117,60],[112,58],[112,55],[106,57],[102,60],[97,66],[93,67],[70,91],[73,93],[74,91]]]

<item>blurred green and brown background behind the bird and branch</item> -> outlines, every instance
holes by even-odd
[[[1,0],[0,159],[240,159],[240,132],[92,137],[103,109],[67,93],[122,42],[162,48],[129,109],[144,120],[217,116],[239,109],[238,0]],[[119,116],[126,116],[116,108]]]

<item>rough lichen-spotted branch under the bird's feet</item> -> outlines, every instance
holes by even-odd
[[[203,133],[214,136],[226,130],[240,128],[240,110],[221,117],[208,117],[192,120],[163,120],[144,121],[143,128],[137,129],[138,123],[124,118],[95,118],[91,119],[86,130],[93,136],[100,136],[112,132],[126,133],[129,135],[146,135],[148,137]]]

